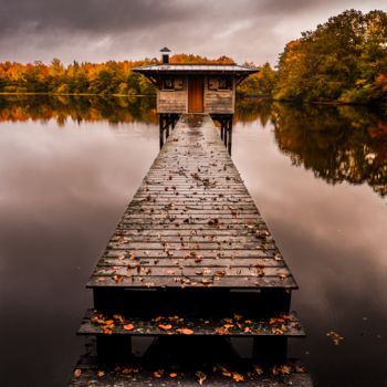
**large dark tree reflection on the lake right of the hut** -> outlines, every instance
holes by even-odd
[[[251,106],[250,106],[251,109]],[[387,195],[387,117],[353,106],[271,104],[270,118],[281,151],[330,184],[367,182]],[[254,119],[268,121],[258,105]],[[247,114],[244,114],[247,115]],[[243,114],[240,115],[244,121]]]

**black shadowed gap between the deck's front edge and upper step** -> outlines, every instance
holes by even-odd
[[[184,280],[190,281],[188,278]],[[142,317],[180,314],[222,318],[234,313],[270,317],[290,312],[291,292],[286,289],[230,290],[215,286],[184,286],[185,282],[179,284],[181,286],[167,289],[94,287],[94,308],[105,314],[119,311],[125,315]]]

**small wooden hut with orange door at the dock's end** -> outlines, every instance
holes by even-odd
[[[134,69],[156,86],[158,114],[233,114],[238,84],[258,72],[238,64],[175,64],[167,48],[161,53],[161,64]]]

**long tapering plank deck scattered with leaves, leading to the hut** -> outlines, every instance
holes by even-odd
[[[297,287],[209,115],[185,115],[88,287]]]

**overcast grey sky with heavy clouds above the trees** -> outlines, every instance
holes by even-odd
[[[175,53],[275,64],[284,44],[387,0],[0,0],[0,61],[102,62]]]

